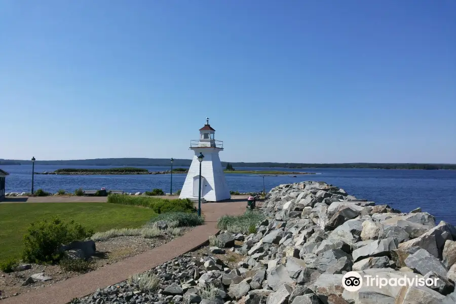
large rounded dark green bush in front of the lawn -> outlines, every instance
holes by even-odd
[[[82,241],[93,235],[81,224],[70,220],[62,221],[59,217],[31,223],[24,235],[22,259],[34,263],[55,263],[63,256],[59,252],[61,244]]]

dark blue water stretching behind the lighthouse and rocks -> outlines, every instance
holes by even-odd
[[[35,172],[54,171],[60,168],[109,168],[107,166],[35,166]],[[141,167],[149,171],[163,171],[164,167]],[[31,166],[2,166],[10,175],[6,192],[30,192]],[[388,204],[402,212],[417,207],[430,212],[437,220],[456,224],[456,171],[454,170],[377,170],[377,169],[288,169],[288,168],[237,168],[244,170],[281,170],[315,172],[316,175],[266,176],[267,191],[284,183],[317,180],[344,188],[349,194],[377,204]],[[251,174],[225,174],[233,191],[261,191],[263,179]],[[185,174],[173,174],[173,191],[180,189]],[[153,188],[170,191],[170,175],[35,175],[34,188],[57,192],[73,192],[82,187],[87,190],[107,189],[125,192],[144,192]]]

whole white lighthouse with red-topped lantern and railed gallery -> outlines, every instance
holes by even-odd
[[[200,129],[200,139],[190,142],[190,149],[195,151],[195,156],[180,192],[180,199],[198,200],[200,182],[198,155],[200,153],[204,156],[201,162],[201,200],[217,202],[231,199],[218,156],[218,153],[223,151],[223,141],[214,139],[215,130],[209,125],[209,119],[206,120],[206,125]]]

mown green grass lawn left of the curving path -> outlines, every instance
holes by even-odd
[[[31,222],[54,215],[74,219],[94,232],[112,228],[137,228],[157,216],[154,210],[109,203],[0,204],[0,261],[20,257],[22,237]]]

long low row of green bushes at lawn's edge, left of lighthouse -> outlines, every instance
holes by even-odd
[[[195,212],[196,208],[189,199],[168,200],[162,198],[154,198],[147,196],[131,196],[131,195],[108,195],[107,202],[111,204],[121,204],[130,206],[140,206],[154,209],[157,213],[165,212]]]

